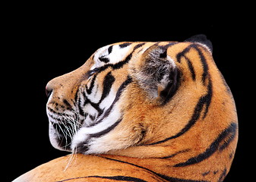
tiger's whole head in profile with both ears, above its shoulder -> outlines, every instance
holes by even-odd
[[[139,158],[189,152],[177,166],[224,150],[232,158],[235,104],[211,50],[205,36],[98,49],[46,85],[52,146]]]

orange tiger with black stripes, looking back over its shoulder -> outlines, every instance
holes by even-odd
[[[14,181],[223,181],[238,118],[212,51],[205,35],[118,42],[50,80],[49,140],[71,155]]]

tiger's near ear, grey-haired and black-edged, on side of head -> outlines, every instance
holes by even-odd
[[[133,75],[151,99],[164,104],[179,86],[179,70],[164,46],[153,45],[134,63]]]

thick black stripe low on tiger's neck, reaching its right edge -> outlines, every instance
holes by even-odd
[[[226,128],[226,130],[223,130],[223,132],[220,133],[220,135],[216,138],[216,140],[214,140],[213,143],[210,144],[210,146],[206,149],[206,151],[202,152],[198,156],[189,158],[188,161],[186,162],[181,162],[177,165],[174,165],[174,167],[184,167],[186,165],[194,165],[198,162],[204,161],[206,158],[209,158],[218,149],[222,151],[223,148],[225,149],[229,145],[229,143],[231,143],[232,140],[234,140],[236,128],[237,128],[237,124],[235,123],[230,124],[229,127]],[[229,138],[230,136],[232,136],[231,137],[232,139],[226,140],[226,138]]]

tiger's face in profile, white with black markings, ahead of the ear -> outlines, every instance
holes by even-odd
[[[128,85],[134,83],[129,65],[134,54],[139,55],[138,51],[142,53],[147,49],[143,47],[145,44],[121,42],[107,45],[96,51],[82,67],[47,84],[52,146],[83,153],[131,146],[131,141],[124,142],[126,139],[120,136],[122,132],[116,133],[119,137],[116,143],[107,140],[114,137],[111,133],[125,119],[122,99]],[[148,42],[147,46],[150,45],[153,43]],[[132,140],[140,140],[136,137]]]

